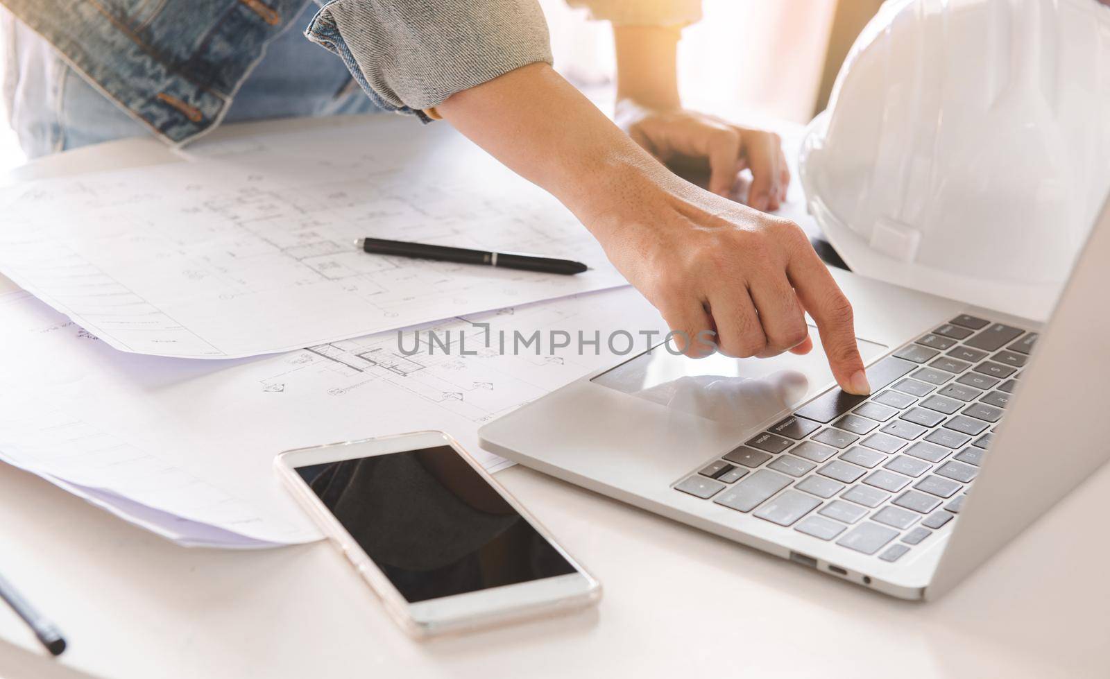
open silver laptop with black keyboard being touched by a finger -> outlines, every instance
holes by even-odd
[[[1110,458],[1110,202],[1049,323],[835,271],[869,397],[808,356],[657,346],[480,430],[484,448],[904,599],[940,596]],[[811,333],[816,342],[816,333]]]

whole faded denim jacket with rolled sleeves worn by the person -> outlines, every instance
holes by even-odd
[[[266,47],[310,0],[0,0],[101,93],[171,143],[220,123]],[[324,0],[316,0],[324,4]],[[597,18],[696,19],[697,0],[576,0]],[[301,29],[302,27],[296,27]],[[528,63],[551,63],[537,0],[332,0],[306,36],[373,103],[423,109]]]

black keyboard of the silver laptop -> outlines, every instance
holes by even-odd
[[[950,529],[1036,342],[961,314],[675,489],[897,561]]]

